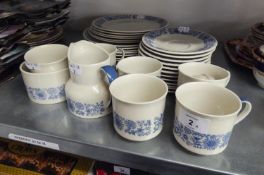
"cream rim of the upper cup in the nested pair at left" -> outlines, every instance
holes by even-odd
[[[28,61],[28,58],[27,56],[29,54],[31,54],[31,52],[35,51],[36,49],[42,49],[42,48],[45,48],[45,47],[54,47],[54,46],[59,46],[59,47],[64,47],[64,48],[67,48],[67,52],[68,52],[68,46],[64,45],[64,44],[44,44],[44,45],[40,45],[40,46],[36,46],[36,47],[33,47],[32,49],[28,50],[25,55],[24,55],[24,60],[27,62],[27,63],[32,63],[30,61]],[[59,62],[62,62],[64,61],[65,59],[67,59],[68,55],[66,53],[66,56],[63,57],[63,58],[60,58],[56,61],[52,61],[52,62],[49,62],[49,63],[32,63],[32,64],[37,64],[37,65],[42,65],[42,66],[45,66],[45,65],[51,65],[51,64],[56,64],[56,63],[59,63]]]

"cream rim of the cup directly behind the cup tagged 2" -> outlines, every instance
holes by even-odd
[[[184,72],[182,69],[185,67],[185,66],[189,66],[189,65],[205,65],[205,66],[210,66],[210,67],[214,67],[218,70],[221,70],[223,72],[226,73],[226,76],[224,78],[221,78],[221,79],[213,79],[213,80],[209,80],[209,79],[203,79],[203,78],[196,78],[196,77],[192,77],[188,74],[186,74],[186,72]],[[179,67],[178,67],[178,70],[179,70],[179,73],[185,75],[186,77],[189,77],[189,78],[192,78],[194,80],[198,80],[198,81],[204,81],[204,82],[216,82],[216,81],[223,81],[223,80],[226,80],[230,77],[230,72],[220,66],[217,66],[217,65],[214,65],[214,64],[207,64],[207,63],[198,63],[198,62],[190,62],[190,63],[184,63],[184,64],[181,64]]]

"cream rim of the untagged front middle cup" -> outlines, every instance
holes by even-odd
[[[116,94],[112,93],[112,87],[113,85],[117,82],[117,81],[122,81],[123,79],[127,79],[127,78],[130,78],[130,77],[146,77],[146,78],[152,78],[152,79],[155,79],[157,81],[159,81],[164,87],[165,87],[165,91],[164,93],[159,96],[158,98],[155,98],[154,100],[149,100],[149,101],[144,101],[144,102],[134,102],[134,101],[126,101],[126,100],[123,100],[123,99],[120,99],[116,96]],[[148,75],[148,74],[127,74],[127,75],[123,75],[121,77],[118,77],[117,79],[115,79],[109,86],[109,91],[111,93],[111,95],[116,98],[117,100],[121,101],[121,102],[124,102],[124,103],[127,103],[127,104],[133,104],[133,105],[143,105],[143,104],[151,104],[151,103],[155,103],[163,98],[166,98],[167,94],[168,94],[168,85],[160,78],[154,76],[154,75]]]

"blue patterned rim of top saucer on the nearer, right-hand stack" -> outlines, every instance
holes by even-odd
[[[202,40],[205,46],[201,48],[200,50],[192,51],[192,52],[176,52],[176,51],[171,51],[171,50],[165,50],[165,49],[155,46],[154,41],[157,37],[162,36],[162,35],[173,35],[173,34],[183,34],[183,35],[193,36],[197,39]],[[165,52],[167,54],[181,54],[181,55],[202,54],[205,52],[209,52],[211,50],[214,50],[218,44],[215,37],[213,37],[212,35],[208,33],[200,32],[197,30],[191,30],[191,29],[189,31],[183,31],[183,30],[180,30],[180,27],[163,28],[160,30],[148,32],[142,37],[142,42],[145,46],[155,51],[163,52],[163,53]]]

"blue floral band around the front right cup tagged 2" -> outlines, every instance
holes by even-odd
[[[202,134],[189,129],[175,119],[174,134],[180,137],[187,145],[194,148],[215,150],[228,144],[231,132],[221,135]]]

